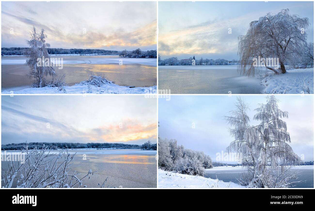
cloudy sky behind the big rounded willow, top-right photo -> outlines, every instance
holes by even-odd
[[[249,23],[287,8],[309,18],[308,41],[314,40],[313,2],[159,2],[158,7],[162,59],[238,59],[238,36],[246,34]]]

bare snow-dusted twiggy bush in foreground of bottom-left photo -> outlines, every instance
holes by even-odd
[[[41,149],[28,149],[28,144],[22,150],[25,161],[11,161],[7,170],[1,170],[3,188],[80,188],[83,179],[93,175],[90,169],[83,177],[76,171],[70,173],[74,154],[60,150],[59,154],[50,153],[47,146]]]

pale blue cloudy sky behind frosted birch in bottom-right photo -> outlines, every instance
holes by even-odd
[[[237,96],[171,96],[169,101],[159,99],[158,133],[161,138],[176,139],[185,148],[204,151],[213,161],[216,153],[223,150],[233,141],[229,136],[228,125],[223,116],[234,109]],[[258,103],[266,103],[265,97],[241,96],[250,104],[248,115],[251,125]],[[314,160],[314,96],[302,97],[286,95],[276,96],[282,111],[289,112],[287,123],[291,137],[290,146],[298,155],[304,154],[305,161]],[[176,111],[176,112],[174,112]],[[195,123],[195,128],[192,124]],[[233,163],[233,162],[230,162]],[[235,163],[235,162],[234,162]]]

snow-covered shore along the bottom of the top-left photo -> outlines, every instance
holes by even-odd
[[[64,91],[59,91],[58,87],[26,88],[19,91],[3,91],[2,94],[154,94],[157,92],[156,86],[134,87],[119,86],[117,84],[105,84],[100,87],[94,85],[75,84],[65,86]]]

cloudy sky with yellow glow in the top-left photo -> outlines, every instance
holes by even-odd
[[[27,47],[35,26],[45,29],[52,48],[157,49],[156,2],[1,2],[1,7],[2,47]]]

